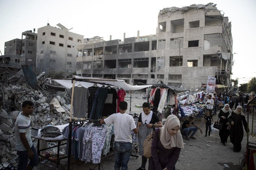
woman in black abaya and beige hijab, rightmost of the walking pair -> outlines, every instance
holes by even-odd
[[[237,106],[229,116],[228,122],[231,125],[231,132],[230,132],[230,141],[233,144],[233,151],[239,152],[241,150],[241,142],[243,140],[243,127],[247,130],[247,122],[245,120],[245,115],[242,112],[243,107]]]

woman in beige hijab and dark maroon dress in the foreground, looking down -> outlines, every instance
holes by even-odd
[[[175,170],[175,164],[184,148],[180,133],[180,120],[169,115],[162,128],[156,128],[152,140],[149,170]]]

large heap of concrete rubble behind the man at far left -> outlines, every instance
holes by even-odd
[[[0,160],[1,166],[7,166],[15,157],[14,123],[25,100],[34,102],[34,114],[31,116],[32,127],[45,125],[63,125],[68,123],[70,97],[68,91],[49,93],[47,90],[33,90],[23,83],[18,85],[1,84],[0,87]],[[34,146],[37,146],[34,141]]]

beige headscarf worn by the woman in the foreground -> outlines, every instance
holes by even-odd
[[[176,115],[169,115],[164,127],[160,128],[160,141],[166,149],[171,149],[173,147],[184,148],[180,130],[173,136],[168,131],[176,126],[180,127],[180,120]]]

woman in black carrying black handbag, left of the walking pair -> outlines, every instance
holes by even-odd
[[[219,122],[223,124],[223,127],[219,132],[219,136],[220,136],[221,143],[223,143],[224,146],[227,145],[227,139],[230,133],[230,130],[228,130],[227,127],[229,126],[228,115],[231,112],[232,110],[229,108],[229,105],[225,104],[224,107],[220,110],[218,115],[220,119]]]

